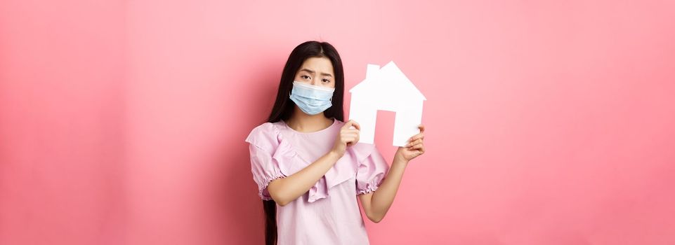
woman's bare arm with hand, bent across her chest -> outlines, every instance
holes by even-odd
[[[350,129],[349,127],[351,126],[355,126],[356,129]],[[341,127],[340,134],[335,140],[331,151],[299,172],[291,174],[286,178],[271,181],[267,190],[272,199],[280,206],[286,206],[289,202],[293,202],[305,194],[335,165],[337,160],[342,158],[347,146],[356,144],[359,139],[358,129],[359,125],[357,123],[351,120],[348,121]]]

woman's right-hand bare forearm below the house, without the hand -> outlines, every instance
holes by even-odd
[[[398,192],[398,187],[400,186],[407,164],[408,162],[405,160],[394,158],[384,181],[382,181],[379,188],[372,195],[370,201],[372,212],[370,216],[372,217],[369,217],[372,221],[379,222],[387,214],[389,207],[394,202],[394,197]]]

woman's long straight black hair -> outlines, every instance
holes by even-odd
[[[333,64],[335,91],[333,92],[331,101],[332,106],[324,111],[324,116],[344,121],[344,70],[342,68],[342,59],[340,59],[337,50],[330,43],[306,41],[295,47],[288,57],[284,71],[281,73],[277,99],[267,120],[269,123],[288,120],[291,117],[295,106],[289,97],[289,93],[293,89],[293,80],[302,63],[310,57],[326,57]],[[277,244],[277,204],[274,200],[263,201],[263,209],[266,216],[265,244],[275,245]]]

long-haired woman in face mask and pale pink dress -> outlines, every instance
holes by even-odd
[[[419,125],[390,169],[374,145],[358,144],[358,123],[343,122],[343,94],[342,61],[332,45],[308,41],[291,52],[268,122],[246,139],[267,216],[266,244],[368,244],[355,197],[378,223],[408,162],[424,153]]]

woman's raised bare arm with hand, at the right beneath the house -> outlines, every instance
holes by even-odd
[[[419,134],[412,137],[409,140],[410,143],[398,148],[391,163],[391,168],[379,188],[372,193],[359,196],[366,216],[374,223],[379,223],[384,218],[389,207],[394,202],[394,197],[396,197],[398,186],[400,186],[401,179],[403,179],[403,172],[405,172],[408,162],[424,154],[424,145],[422,145],[422,141],[424,141],[424,125],[419,125],[419,129]]]

